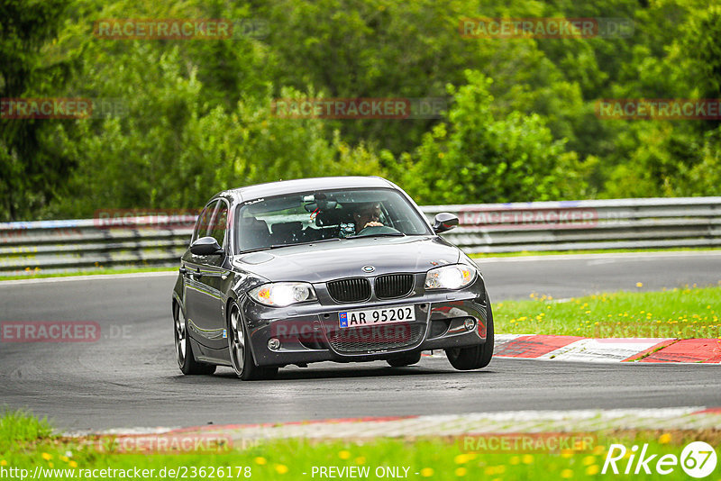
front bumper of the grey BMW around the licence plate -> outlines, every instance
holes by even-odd
[[[256,364],[370,361],[410,351],[462,348],[486,342],[488,299],[482,277],[460,291],[386,301],[371,298],[359,304],[335,304],[328,302],[322,292],[318,294],[320,302],[284,308],[266,307],[247,297],[242,299],[247,341]],[[340,328],[339,313],[394,306],[412,306],[415,321]],[[473,321],[470,329],[469,320]],[[280,340],[278,349],[269,349],[271,338]]]

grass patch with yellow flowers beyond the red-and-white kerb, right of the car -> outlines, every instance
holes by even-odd
[[[494,305],[497,333],[595,338],[721,338],[721,287],[618,292]]]

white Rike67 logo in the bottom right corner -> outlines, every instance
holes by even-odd
[[[679,466],[691,477],[706,477],[716,469],[716,450],[704,441],[694,441],[681,451],[680,458],[675,454],[659,457],[648,452],[648,444],[644,444],[640,452],[635,445],[628,450],[623,444],[611,444],[601,474],[605,475],[609,467],[613,474],[620,474],[620,467],[625,475],[650,475],[652,472],[668,475]]]

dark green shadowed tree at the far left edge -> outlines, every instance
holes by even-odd
[[[0,2],[0,98],[47,95],[66,81],[72,61],[42,52],[56,36],[66,4]],[[43,143],[46,128],[41,120],[0,118],[0,218],[31,216],[67,179],[73,159]]]

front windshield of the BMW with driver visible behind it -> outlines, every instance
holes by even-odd
[[[423,216],[392,189],[324,190],[251,200],[237,210],[235,220],[237,251],[431,233]]]

